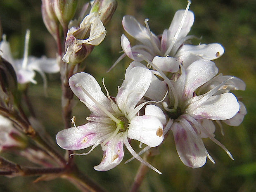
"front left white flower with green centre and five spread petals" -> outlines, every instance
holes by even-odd
[[[145,103],[140,100],[149,88],[152,73],[142,67],[134,67],[126,72],[126,78],[118,88],[115,101],[101,91],[100,85],[88,73],[77,73],[69,79],[69,85],[75,95],[85,103],[92,114],[88,123],[60,131],[57,144],[63,149],[77,150],[101,144],[103,158],[97,171],[114,168],[123,159],[123,144],[140,162],[158,173],[156,168],[138,156],[128,142],[139,140],[150,147],[156,147],[164,139],[164,113],[154,105],[147,105],[145,115],[137,115]],[[88,152],[90,153],[92,149]],[[86,154],[88,154],[86,153]]]

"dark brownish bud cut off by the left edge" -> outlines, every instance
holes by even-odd
[[[5,93],[17,90],[17,76],[13,66],[2,57],[0,57],[0,86]]]

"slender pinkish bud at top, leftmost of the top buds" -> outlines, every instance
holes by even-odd
[[[51,33],[53,38],[57,40],[59,21],[53,11],[52,0],[42,0],[42,17],[47,30]]]

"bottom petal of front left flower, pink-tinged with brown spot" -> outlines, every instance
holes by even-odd
[[[123,133],[117,134],[113,139],[107,142],[102,150],[103,158],[98,166],[94,169],[97,171],[108,171],[116,167],[123,160]]]

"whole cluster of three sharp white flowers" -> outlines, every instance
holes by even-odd
[[[121,36],[123,55],[133,62],[126,69],[125,79],[118,88],[116,97],[107,97],[100,85],[88,73],[77,73],[69,79],[73,93],[92,114],[88,123],[60,131],[57,144],[67,150],[84,149],[92,146],[89,154],[101,145],[103,158],[94,168],[107,171],[123,159],[123,145],[134,158],[156,168],[140,158],[150,147],[156,147],[170,130],[181,161],[189,167],[198,168],[206,163],[207,152],[201,138],[209,137],[231,153],[214,137],[215,125],[224,122],[239,126],[247,113],[244,104],[230,91],[245,90],[245,84],[234,76],[218,74],[211,60],[224,53],[218,43],[191,45],[187,36],[194,22],[189,10],[175,13],[168,29],[156,36],[133,16],[123,17],[124,30],[137,41],[131,46],[125,35]],[[146,63],[144,65],[143,63]],[[130,140],[147,145],[138,154]],[[84,155],[84,154],[83,154]]]

